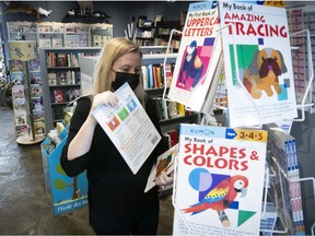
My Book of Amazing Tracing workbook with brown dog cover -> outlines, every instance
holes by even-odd
[[[295,118],[285,9],[220,1],[219,10],[230,127]]]

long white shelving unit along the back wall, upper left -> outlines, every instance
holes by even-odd
[[[38,47],[102,47],[113,38],[105,23],[7,22],[8,38],[36,40]]]

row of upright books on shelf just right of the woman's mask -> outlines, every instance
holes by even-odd
[[[164,87],[164,81],[166,81],[166,87],[170,87],[174,71],[173,63],[166,63],[165,70],[162,63],[142,66],[141,69],[144,90]]]

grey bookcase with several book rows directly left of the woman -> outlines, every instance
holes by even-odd
[[[81,58],[98,55],[101,49],[101,47],[39,49],[46,132],[62,120],[66,105],[81,95]]]

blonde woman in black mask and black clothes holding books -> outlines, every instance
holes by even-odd
[[[128,82],[159,128],[153,104],[145,97],[141,75],[140,48],[125,38],[106,44],[95,67],[94,90],[81,97],[73,113],[61,166],[69,176],[86,169],[89,181],[90,223],[95,234],[156,234],[159,222],[158,187],[144,193],[147,180],[156,157],[167,150],[161,141],[145,163],[133,175],[92,111],[101,104],[116,106],[113,93]],[[170,185],[165,173],[158,185]]]

